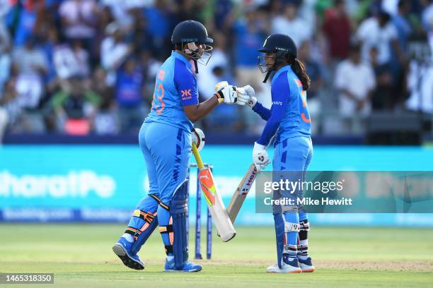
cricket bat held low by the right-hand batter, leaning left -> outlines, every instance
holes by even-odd
[[[251,164],[246,172],[245,176],[243,176],[241,182],[236,188],[235,193],[231,197],[229,207],[227,208],[227,214],[230,217],[232,223],[236,220],[236,216],[238,216],[239,210],[241,210],[243,201],[245,200],[250,188],[253,186],[255,176],[257,176],[257,168],[255,164]]]

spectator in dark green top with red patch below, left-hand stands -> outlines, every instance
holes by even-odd
[[[83,85],[81,78],[69,78],[62,90],[52,97],[57,129],[71,135],[87,135],[100,104],[100,96]]]

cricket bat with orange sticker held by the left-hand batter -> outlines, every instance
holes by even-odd
[[[221,236],[222,241],[227,242],[236,236],[236,230],[227,214],[221,195],[217,192],[214,176],[212,176],[212,172],[209,168],[204,168],[202,157],[200,157],[194,143],[192,143],[192,154],[194,154],[199,169],[198,178],[200,187],[202,188],[204,198],[206,198],[218,234]]]

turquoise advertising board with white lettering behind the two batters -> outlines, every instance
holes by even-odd
[[[251,150],[249,146],[207,145],[201,152],[204,162],[212,164],[217,191],[225,205],[251,164]],[[352,207],[342,205],[337,209],[322,202],[312,205],[310,217],[316,224],[433,226],[433,177],[429,173],[432,148],[318,146],[315,152],[311,173],[307,173],[311,181],[323,185],[348,179],[340,195],[333,191],[327,198],[352,196],[355,201]],[[400,172],[394,171],[396,167]],[[260,206],[268,196],[270,202],[270,191],[275,192],[275,187],[266,186],[270,183],[267,178],[275,180],[271,169],[268,167],[268,172],[256,179],[236,224],[272,224],[272,215],[267,213],[272,210]],[[293,177],[299,183],[301,176]],[[134,145],[0,148],[1,221],[126,222],[148,187],[146,165]],[[191,168],[190,211],[195,211],[196,189],[197,170]],[[302,205],[321,199],[311,191],[304,194]],[[202,200],[203,208],[205,203]]]

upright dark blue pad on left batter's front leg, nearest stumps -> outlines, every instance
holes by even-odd
[[[183,268],[188,260],[188,239],[187,239],[187,213],[188,213],[188,181],[183,181],[176,188],[170,205],[160,203],[163,208],[170,211],[170,224],[166,227],[159,227],[161,233],[168,233],[171,246],[166,246],[166,252],[173,253],[175,268]]]

